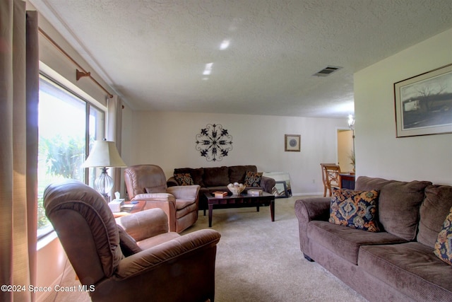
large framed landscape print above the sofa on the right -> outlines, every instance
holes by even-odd
[[[394,83],[396,137],[452,133],[452,64]]]

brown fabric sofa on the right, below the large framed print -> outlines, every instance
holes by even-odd
[[[452,187],[361,176],[355,190],[379,190],[372,233],[328,222],[331,197],[299,199],[299,243],[369,301],[452,301],[452,266],[434,244],[452,207]]]

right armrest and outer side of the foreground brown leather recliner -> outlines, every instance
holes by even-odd
[[[130,255],[90,296],[112,302],[213,301],[219,240],[220,233],[205,229]]]

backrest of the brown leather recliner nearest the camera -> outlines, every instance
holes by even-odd
[[[78,180],[54,182],[44,190],[44,209],[81,284],[112,277],[124,256],[102,195]]]

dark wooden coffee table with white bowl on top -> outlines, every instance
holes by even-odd
[[[270,204],[271,221],[275,221],[275,195],[262,192],[259,196],[249,194],[228,195],[225,197],[215,197],[211,193],[204,193],[207,198],[209,208],[209,228],[212,226],[213,206],[224,204],[226,208],[256,207],[259,211],[261,204]]]

